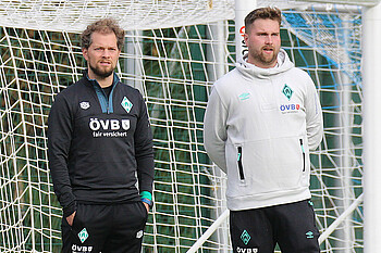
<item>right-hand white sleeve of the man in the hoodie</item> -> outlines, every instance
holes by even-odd
[[[308,146],[310,150],[316,150],[323,135],[323,117],[319,97],[311,79],[307,84],[305,100]]]

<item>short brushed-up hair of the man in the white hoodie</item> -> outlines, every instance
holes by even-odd
[[[266,8],[259,8],[254,11],[251,11],[247,16],[245,17],[245,30],[246,34],[250,29],[250,26],[256,20],[272,20],[272,21],[278,21],[279,26],[281,26],[282,23],[282,12],[278,8],[271,8],[271,7],[266,7]]]

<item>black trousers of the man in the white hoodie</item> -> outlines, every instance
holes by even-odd
[[[308,200],[263,208],[232,211],[230,230],[233,252],[319,253],[319,230]]]

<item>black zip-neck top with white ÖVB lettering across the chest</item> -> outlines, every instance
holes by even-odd
[[[49,167],[64,217],[77,202],[124,203],[152,192],[152,134],[140,92],[114,74],[107,98],[86,73],[56,97],[48,119]]]

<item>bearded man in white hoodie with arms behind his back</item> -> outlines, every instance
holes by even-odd
[[[311,78],[281,49],[281,11],[245,18],[248,53],[216,81],[205,115],[209,157],[228,175],[234,252],[320,252],[309,150],[322,138]]]

